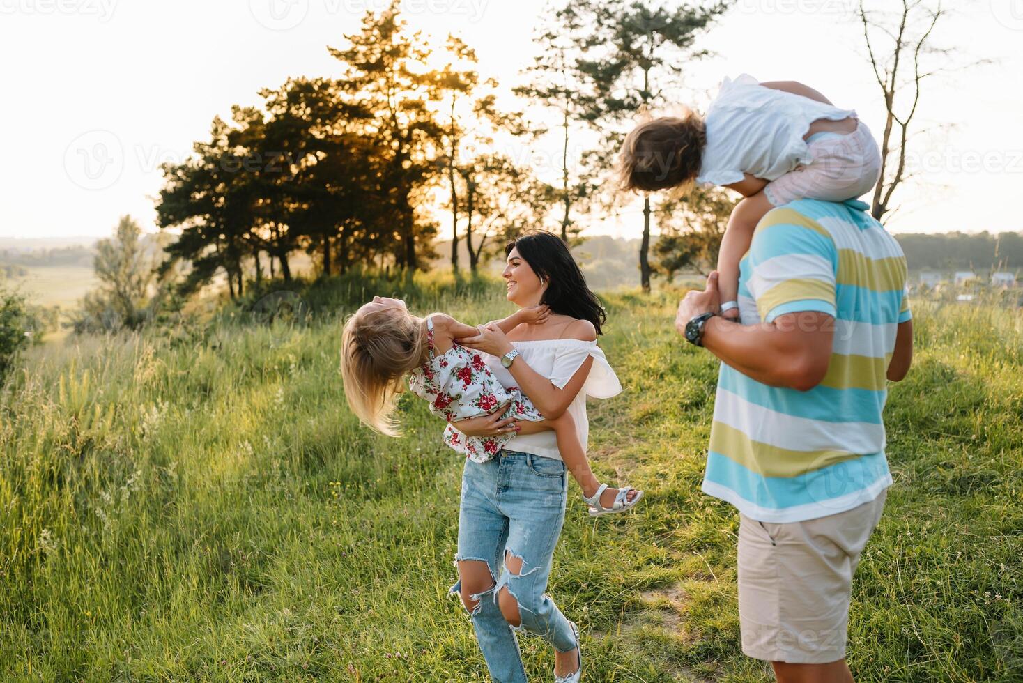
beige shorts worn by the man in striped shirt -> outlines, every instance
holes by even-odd
[[[852,575],[881,518],[887,489],[838,514],[772,523],[739,515],[743,652],[766,662],[845,657]]]

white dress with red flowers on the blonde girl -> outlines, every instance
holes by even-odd
[[[516,435],[466,437],[454,428],[452,421],[489,415],[504,404],[507,408],[502,419],[514,417],[532,422],[543,419],[518,386],[504,388],[497,381],[479,352],[452,343],[447,353],[436,353],[432,318],[427,318],[427,345],[430,360],[412,370],[408,388],[430,403],[432,413],[448,421],[444,443],[458,453],[474,462],[486,462]]]

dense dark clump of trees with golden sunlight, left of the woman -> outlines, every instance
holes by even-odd
[[[394,254],[394,188],[384,184],[392,160],[380,153],[367,130],[372,117],[347,96],[349,87],[290,79],[264,89],[265,112],[232,107],[230,123],[214,120],[209,142],[165,167],[158,217],[180,234],[162,268],[190,263],[181,293],[223,270],[231,297],[241,295],[250,262],[261,279],[263,253],[270,276],[279,264],[285,282],[297,248],[318,255],[326,275],[336,263],[344,270],[353,258]],[[429,232],[414,215],[413,230]]]

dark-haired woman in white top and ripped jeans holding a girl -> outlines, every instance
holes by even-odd
[[[484,352],[501,384],[520,388],[544,417],[570,415],[585,447],[586,396],[608,398],[621,392],[596,346],[604,309],[568,246],[554,235],[524,235],[507,245],[505,255],[508,301],[520,308],[545,304],[550,315],[540,323],[520,324],[507,335],[489,324],[459,344]],[[553,645],[554,680],[575,682],[582,673],[579,631],[544,593],[565,521],[565,463],[552,431],[522,429],[514,418],[501,419],[503,412],[498,408],[454,423],[468,437],[518,436],[487,462],[465,461],[455,555],[458,582],[450,592],[460,595],[495,681],[526,681],[516,634],[527,630]],[[640,495],[620,489],[612,505],[626,509]],[[604,507],[598,500],[597,507]]]

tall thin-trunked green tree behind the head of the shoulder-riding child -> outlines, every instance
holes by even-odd
[[[595,97],[590,118],[611,131],[606,149],[620,146],[617,128],[637,112],[668,103],[666,89],[679,81],[685,61],[706,50],[696,41],[727,4],[706,6],[655,4],[640,0],[588,0],[578,3],[580,13],[592,25],[582,43],[580,69],[591,80]],[[650,290],[650,196],[643,197],[643,228],[639,246],[639,280]]]

